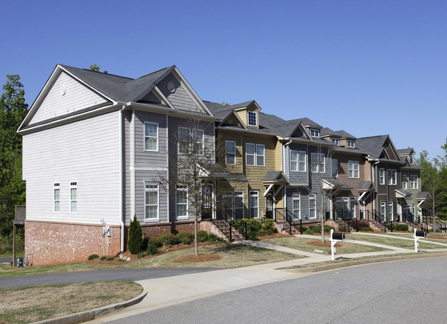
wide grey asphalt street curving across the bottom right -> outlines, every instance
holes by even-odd
[[[342,268],[110,323],[446,323],[446,269],[447,257]]]

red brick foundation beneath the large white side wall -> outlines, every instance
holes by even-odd
[[[25,220],[25,259],[32,254],[34,266],[85,260],[89,255],[102,256],[102,224],[73,224]],[[121,249],[121,228],[111,226],[109,255]],[[104,240],[107,254],[107,237]]]

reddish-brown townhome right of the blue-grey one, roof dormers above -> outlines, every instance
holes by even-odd
[[[371,206],[371,195],[375,191],[369,163],[356,146],[357,138],[344,130],[323,128],[321,137],[334,144],[331,148],[332,177],[345,184],[337,189],[329,205],[335,218],[364,218],[367,207]]]

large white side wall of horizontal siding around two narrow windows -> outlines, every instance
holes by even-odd
[[[119,113],[23,135],[26,218],[120,224]],[[69,213],[69,183],[78,185],[78,212]],[[61,212],[53,212],[61,183]]]

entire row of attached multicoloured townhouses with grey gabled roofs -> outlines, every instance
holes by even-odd
[[[388,135],[202,101],[175,66],[131,79],[57,65],[19,132],[34,264],[124,251],[133,216],[144,235],[191,230],[197,192],[172,181],[185,143],[222,170],[204,181],[203,220],[413,221],[424,200],[415,152]]]

